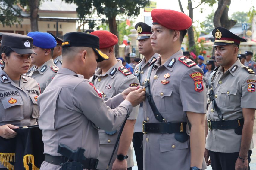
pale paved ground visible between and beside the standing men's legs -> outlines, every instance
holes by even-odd
[[[254,121],[254,130],[253,130],[252,138],[253,138],[255,148],[252,150],[250,167],[251,167],[251,170],[256,170],[256,120]],[[133,160],[135,165],[133,167],[133,170],[138,170],[136,157],[134,153],[133,153]],[[211,166],[208,166],[207,170],[212,170]]]

